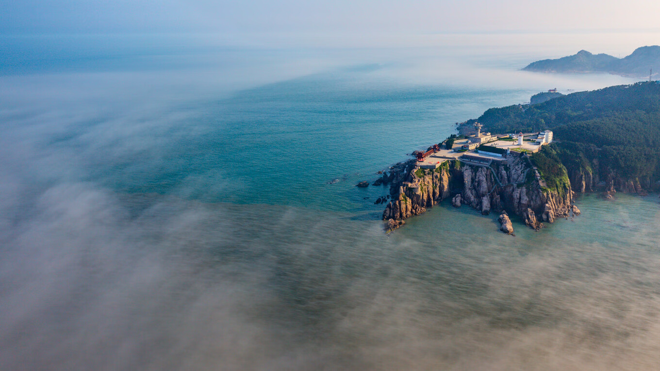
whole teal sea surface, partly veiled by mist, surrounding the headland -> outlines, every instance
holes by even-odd
[[[1,36],[0,369],[655,370],[658,195],[385,235],[355,187],[488,108],[634,83],[519,71],[629,36]]]

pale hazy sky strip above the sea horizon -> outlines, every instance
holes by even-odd
[[[387,34],[657,30],[651,0],[24,0],[0,2],[0,32]]]

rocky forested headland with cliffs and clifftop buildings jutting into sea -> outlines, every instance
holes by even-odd
[[[503,232],[513,233],[511,214],[538,230],[579,215],[576,192],[611,198],[616,191],[660,189],[660,84],[491,108],[413,155],[379,179],[389,185],[386,230],[445,199],[484,215],[500,213]]]

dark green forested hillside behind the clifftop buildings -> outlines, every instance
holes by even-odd
[[[588,172],[602,181],[639,180],[645,187],[658,187],[657,81],[576,92],[529,106],[491,108],[478,121],[494,133],[554,131],[558,143],[552,148],[569,173]]]

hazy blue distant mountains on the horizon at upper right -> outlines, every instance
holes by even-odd
[[[607,72],[614,75],[630,77],[647,77],[649,71],[653,75],[660,73],[660,46],[642,46],[624,58],[612,57],[607,54],[592,54],[580,50],[575,55],[559,59],[544,59],[536,61],[523,68],[523,71],[546,73],[587,73]]]

